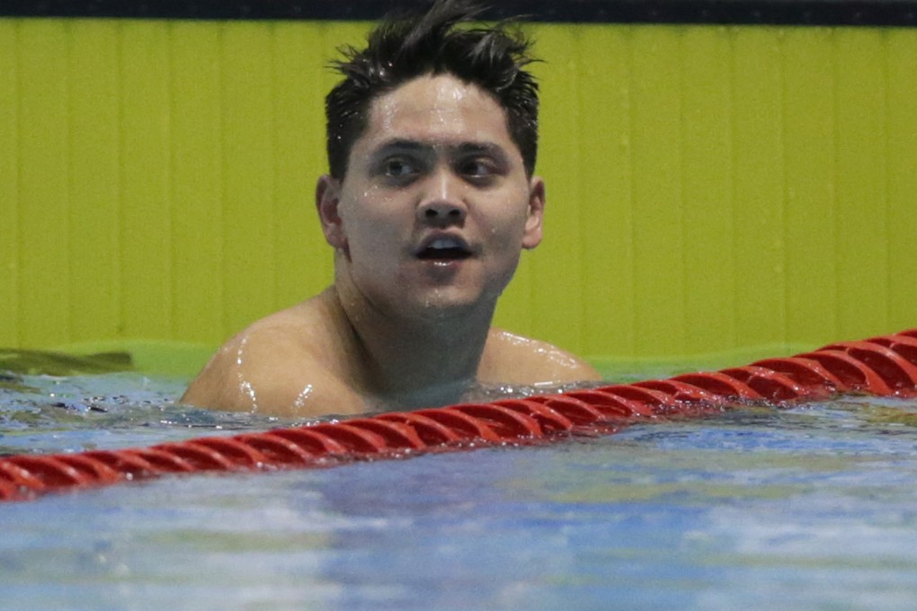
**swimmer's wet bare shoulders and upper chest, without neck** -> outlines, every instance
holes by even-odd
[[[556,346],[491,329],[477,376],[408,391],[383,388],[373,379],[359,335],[335,299],[329,289],[233,337],[182,402],[273,415],[358,414],[480,400],[506,386],[598,378],[591,367]]]

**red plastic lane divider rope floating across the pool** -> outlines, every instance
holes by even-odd
[[[168,474],[327,467],[611,434],[636,422],[752,405],[793,407],[845,394],[917,397],[917,329],[749,366],[556,395],[387,412],[147,448],[17,454],[0,458],[0,500]]]

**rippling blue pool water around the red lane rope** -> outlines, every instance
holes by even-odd
[[[260,431],[183,380],[8,376],[0,453]],[[917,402],[0,505],[0,609],[911,609]]]

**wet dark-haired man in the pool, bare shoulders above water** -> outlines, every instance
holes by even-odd
[[[182,397],[276,415],[453,404],[489,385],[598,379],[558,347],[491,327],[541,241],[529,42],[437,0],[344,50],[326,98],[315,204],[334,284],[229,340]]]

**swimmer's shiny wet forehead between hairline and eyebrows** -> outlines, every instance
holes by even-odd
[[[515,149],[503,108],[476,85],[450,75],[422,76],[405,82],[370,104],[368,147],[392,138],[438,142],[489,142]]]

